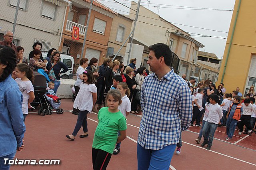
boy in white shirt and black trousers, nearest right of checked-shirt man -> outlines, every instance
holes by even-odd
[[[204,94],[203,89],[198,89],[198,93],[196,94],[196,97],[195,97],[195,104],[194,104],[194,108],[193,108],[193,117],[192,117],[192,121],[190,122],[190,126],[193,126],[194,125],[193,123],[196,120],[196,126],[202,127],[200,125],[200,119],[201,119],[200,113],[202,112],[201,107],[203,105],[203,94]]]

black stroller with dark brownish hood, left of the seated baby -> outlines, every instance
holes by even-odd
[[[34,108],[36,108],[36,107],[38,107],[38,105],[40,105],[40,109],[38,110],[38,115],[42,114],[42,116],[45,116],[45,115],[52,114],[52,109],[49,108],[48,100],[47,100],[46,96],[44,95],[46,92],[48,92],[46,90],[46,78],[44,77],[44,75],[42,75],[36,71],[33,71],[33,75],[34,75],[34,82],[32,83],[32,85],[34,87],[35,99],[30,104]],[[62,109],[62,111],[60,109],[58,109],[57,113],[62,114],[63,109]]]

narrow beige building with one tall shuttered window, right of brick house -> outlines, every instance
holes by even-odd
[[[129,37],[133,20],[122,15],[117,14],[112,21],[112,27],[110,31],[110,37],[108,41],[108,53],[107,57],[114,57],[125,40]],[[115,59],[123,61],[128,40],[124,43],[124,46],[118,53]]]

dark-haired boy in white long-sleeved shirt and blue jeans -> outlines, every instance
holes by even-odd
[[[208,118],[206,119],[207,121],[204,124],[204,128],[203,128],[204,142],[201,144],[201,146],[204,146],[207,144],[207,147],[206,147],[207,150],[209,150],[212,146],[214,132],[218,127],[218,123],[220,119],[223,116],[222,108],[220,107],[220,105],[218,105],[219,96],[216,94],[211,94],[209,95],[209,100],[212,105],[210,105],[209,107]]]

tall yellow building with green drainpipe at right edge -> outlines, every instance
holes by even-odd
[[[246,91],[256,82],[256,1],[236,0],[217,85]],[[255,89],[255,88],[254,88]]]

